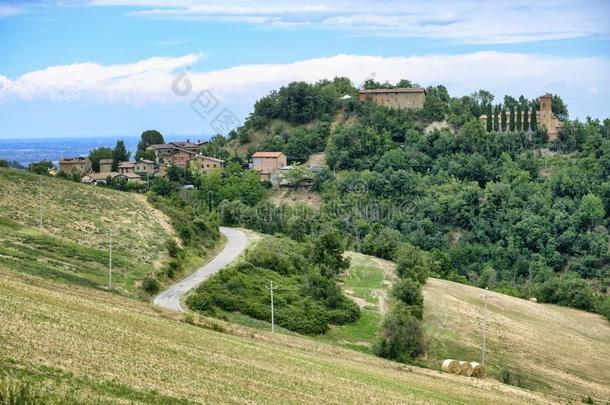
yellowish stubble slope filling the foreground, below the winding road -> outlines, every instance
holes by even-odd
[[[0,269],[0,374],[29,380],[49,397],[88,403],[541,400],[493,381],[243,327],[226,325],[231,333],[221,333],[158,311]],[[202,322],[220,329],[210,323],[218,321]]]

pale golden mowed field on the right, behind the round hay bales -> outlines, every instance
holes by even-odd
[[[481,356],[484,290],[429,279],[428,364]],[[489,292],[486,366],[499,380],[565,400],[610,401],[610,322],[571,308]]]

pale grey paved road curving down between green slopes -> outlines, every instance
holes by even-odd
[[[222,252],[188,277],[183,278],[167,290],[161,292],[161,294],[157,295],[155,297],[155,305],[173,309],[175,311],[184,311],[184,308],[182,308],[182,305],[180,304],[180,300],[184,294],[207,280],[212,274],[230,264],[248,246],[246,234],[239,229],[221,226],[220,233],[227,237],[227,244],[222,249]]]

